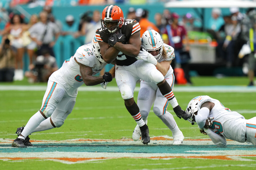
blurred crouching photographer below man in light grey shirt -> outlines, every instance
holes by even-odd
[[[50,75],[58,70],[56,59],[50,55],[47,49],[42,50],[42,55],[36,57],[34,65],[30,66],[31,71],[26,71],[30,83],[47,82]]]

